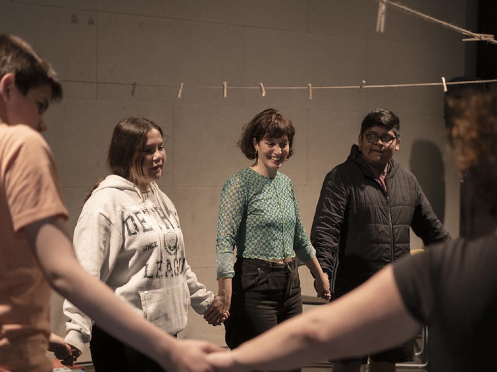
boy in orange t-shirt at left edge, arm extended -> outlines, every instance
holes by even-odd
[[[39,134],[49,103],[61,96],[50,65],[20,38],[0,35],[0,372],[50,371],[50,341],[63,363],[78,357],[50,334],[49,284],[162,368],[212,370],[206,354],[214,345],[176,340],[80,267],[52,153]]]

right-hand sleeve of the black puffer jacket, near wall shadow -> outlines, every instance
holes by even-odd
[[[416,189],[418,197],[411,222],[412,231],[423,240],[425,246],[450,239],[449,233],[433,212],[418,181],[416,181]]]

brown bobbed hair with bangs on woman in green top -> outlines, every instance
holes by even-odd
[[[264,138],[279,138],[286,135],[288,138],[288,158],[294,153],[293,141],[295,128],[292,122],[280,111],[268,108],[254,116],[250,123],[245,124],[238,141],[243,154],[250,160],[256,158],[252,140],[260,142]]]

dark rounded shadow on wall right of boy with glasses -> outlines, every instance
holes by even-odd
[[[445,167],[442,152],[434,143],[417,140],[412,144],[409,168],[418,179],[433,211],[444,223]]]

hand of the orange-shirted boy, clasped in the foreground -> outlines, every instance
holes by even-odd
[[[171,352],[171,363],[164,367],[176,372],[213,372],[207,357],[222,350],[206,341],[178,340],[178,346]]]

